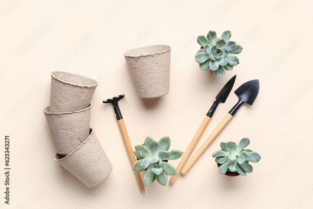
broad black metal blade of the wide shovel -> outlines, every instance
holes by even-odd
[[[245,82],[236,89],[235,94],[242,102],[252,105],[259,94],[260,82],[258,79]]]

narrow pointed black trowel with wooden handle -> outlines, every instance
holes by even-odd
[[[208,113],[206,114],[206,116],[204,116],[204,119],[202,121],[202,123],[200,124],[196,134],[193,136],[186,152],[184,153],[184,155],[182,156],[182,159],[180,161],[180,163],[178,164],[176,170],[177,170],[177,175],[173,175],[172,178],[170,179],[170,182],[172,184],[174,184],[174,182],[176,181],[180,171],[182,170],[182,167],[185,165],[189,155],[191,154],[193,148],[196,146],[199,138],[201,137],[204,129],[207,127],[209,121],[211,120],[218,104],[220,102],[224,103],[230,93],[230,91],[233,88],[233,85],[235,83],[236,80],[236,75],[233,76],[226,84],[225,86],[222,88],[222,90],[218,93],[218,95],[215,97],[216,101],[213,102],[212,107],[210,108],[210,110],[208,111]]]

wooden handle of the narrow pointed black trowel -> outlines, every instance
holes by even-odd
[[[179,164],[178,164],[178,166],[176,168],[178,174],[177,175],[173,175],[172,178],[170,179],[170,182],[172,184],[174,184],[174,182],[176,181],[180,171],[182,170],[182,167],[185,165],[189,155],[191,154],[193,148],[196,146],[200,136],[202,135],[205,127],[207,127],[207,125],[208,125],[210,120],[211,120],[210,117],[208,117],[208,116],[204,117],[204,119],[203,119],[202,123],[200,124],[196,134],[193,136],[193,138],[192,138],[192,140],[191,140],[191,142],[190,142],[186,152],[182,156],[182,159],[181,159],[181,161],[179,162]]]

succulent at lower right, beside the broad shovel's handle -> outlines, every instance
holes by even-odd
[[[218,172],[220,174],[225,174],[226,171],[237,172],[243,176],[246,176],[246,173],[251,173],[252,166],[248,162],[257,163],[261,156],[251,149],[244,149],[249,144],[249,138],[241,139],[238,145],[233,141],[222,142],[220,144],[222,150],[217,150],[212,154],[215,162],[221,164],[218,167]]]

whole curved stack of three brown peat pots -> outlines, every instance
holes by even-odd
[[[51,73],[50,106],[45,114],[57,154],[54,160],[88,187],[112,171],[95,131],[90,128],[91,98],[97,81],[70,72]]]

